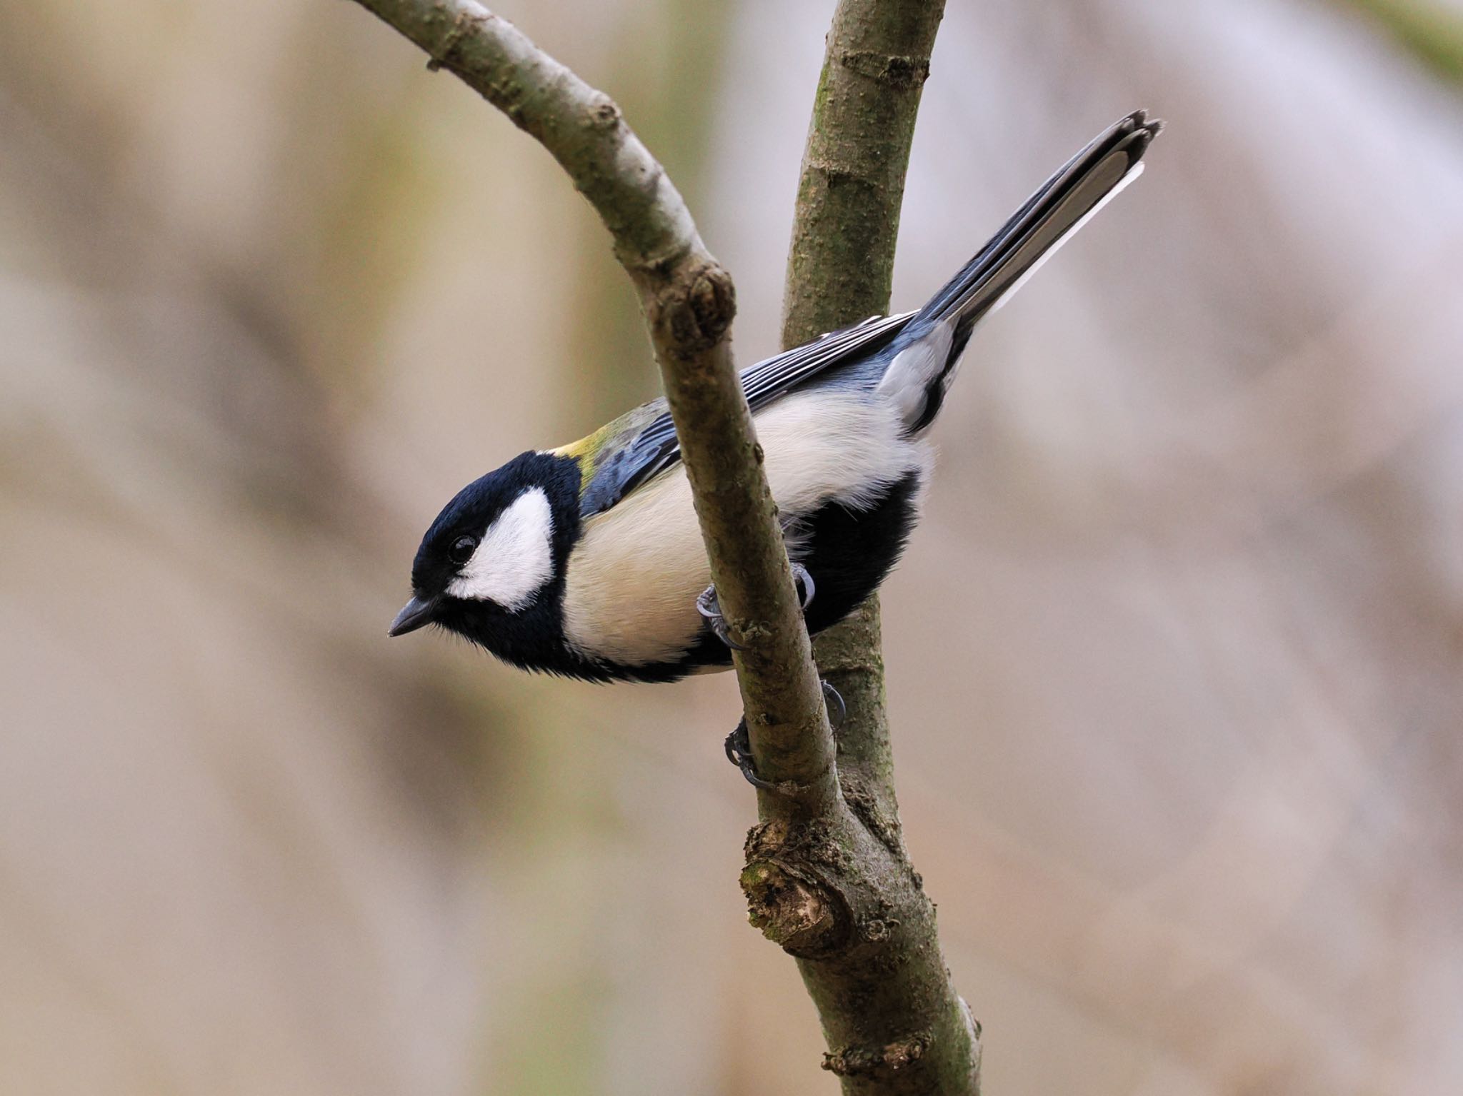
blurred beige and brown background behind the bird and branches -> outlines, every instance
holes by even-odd
[[[831,3],[502,3],[775,349]],[[885,596],[1002,1096],[1463,1089],[1463,3],[949,0],[917,305],[1110,120]],[[831,1093],[729,677],[388,642],[468,479],[654,395],[604,231],[356,4],[0,0],[0,1093]]]

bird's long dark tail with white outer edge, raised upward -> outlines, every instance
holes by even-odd
[[[1144,111],[1113,123],[1027,199],[990,243],[914,314],[879,383],[914,434],[939,412],[970,332],[1071,235],[1143,174],[1143,153],[1163,127]]]

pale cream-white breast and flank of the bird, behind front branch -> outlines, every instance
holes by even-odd
[[[787,396],[755,424],[784,519],[828,500],[870,504],[928,462],[925,446],[900,437],[891,403],[868,395]],[[585,523],[569,557],[565,636],[591,658],[673,662],[696,640],[695,599],[710,585],[691,484],[676,465]]]

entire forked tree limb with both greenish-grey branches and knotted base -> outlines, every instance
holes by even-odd
[[[604,94],[473,0],[358,0],[533,134],[614,238],[645,310],[712,580],[733,636],[758,794],[752,921],[797,956],[849,1093],[974,1093],[973,1021],[904,852],[882,722],[878,615],[821,643],[853,701],[841,773],[727,333],[732,281]],[[844,0],[828,38],[784,339],[882,311],[919,91],[942,3]],[[824,321],[831,317],[835,321]]]

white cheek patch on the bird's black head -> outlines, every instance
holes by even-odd
[[[550,579],[553,511],[543,488],[531,487],[497,516],[473,558],[448,583],[448,593],[518,612],[533,605]]]

